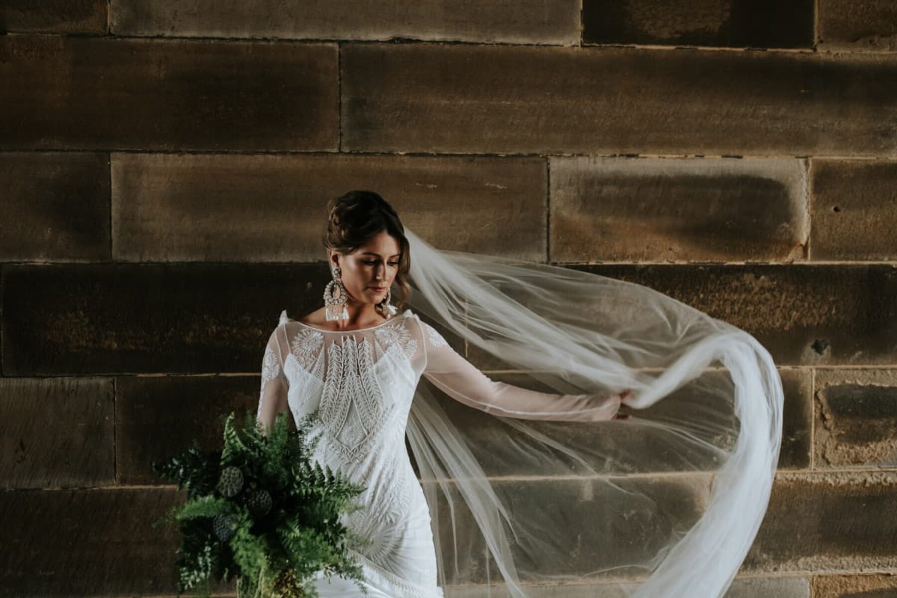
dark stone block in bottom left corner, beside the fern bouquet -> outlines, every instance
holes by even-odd
[[[5,596],[174,594],[173,488],[0,492]]]

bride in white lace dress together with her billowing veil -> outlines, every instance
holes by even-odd
[[[282,312],[262,360],[257,418],[269,429],[278,412],[299,420],[319,410],[313,459],[365,486],[364,508],[344,523],[370,539],[350,548],[366,595],[430,598],[449,581],[463,590],[472,580],[492,592],[496,573],[501,595],[515,597],[546,581],[683,595],[674,578],[692,580],[679,586],[688,595],[722,594],[753,541],[779,450],[780,382],[745,355],[745,345],[762,352],[753,337],[634,283],[437,250],[376,193],[353,191],[327,209],[325,306],[299,318]],[[462,357],[465,345],[526,383],[486,376]],[[711,362],[730,376],[705,376]],[[642,371],[651,368],[662,372]],[[540,385],[557,392],[526,387]],[[631,407],[677,389],[691,391],[681,409],[700,411],[632,418]],[[745,418],[745,403],[759,413]],[[608,427],[614,420],[631,421],[631,432]],[[763,423],[772,424],[765,437]],[[742,447],[729,450],[735,437]],[[687,506],[658,503],[658,482],[630,483],[622,472],[714,472],[714,495],[704,516],[689,519]],[[680,501],[676,492],[693,486],[660,483]],[[738,489],[745,497],[733,498]],[[707,579],[684,572],[697,554],[720,549]],[[600,568],[603,555],[611,565]],[[315,585],[321,596],[365,595],[340,576]]]

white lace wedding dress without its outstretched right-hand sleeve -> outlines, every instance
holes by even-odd
[[[425,360],[410,311],[352,333],[319,330],[284,311],[266,346],[258,419],[270,426],[284,403],[294,420],[319,408],[312,459],[368,487],[360,497],[366,508],[344,523],[374,541],[353,547],[353,556],[364,557],[375,596],[442,595],[429,511],[405,451],[405,420]],[[322,596],[361,594],[346,581],[317,585]]]

